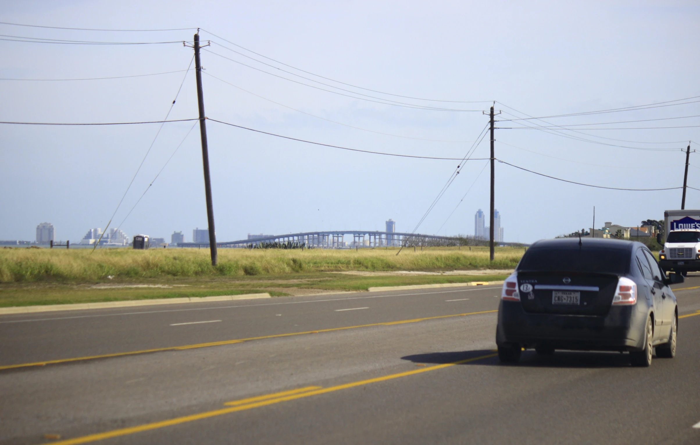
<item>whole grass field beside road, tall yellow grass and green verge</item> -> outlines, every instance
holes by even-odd
[[[85,303],[269,292],[285,296],[368,287],[503,280],[505,275],[440,271],[512,269],[524,249],[0,249],[0,306]],[[347,275],[348,271],[425,271],[435,275]],[[139,287],[137,287],[139,286]]]

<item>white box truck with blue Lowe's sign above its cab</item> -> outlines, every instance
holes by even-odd
[[[700,271],[700,210],[666,210],[664,231],[659,266],[682,275]]]

